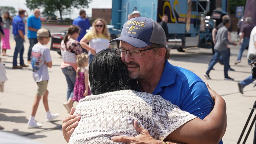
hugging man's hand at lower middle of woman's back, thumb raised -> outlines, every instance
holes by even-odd
[[[142,128],[138,121],[135,120],[133,123],[135,129],[140,133],[138,136],[135,137],[128,137],[128,136],[113,136],[111,140],[114,142],[126,142],[128,144],[163,144],[162,141],[155,140],[150,136],[149,131]]]

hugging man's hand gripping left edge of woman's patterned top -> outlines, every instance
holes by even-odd
[[[62,120],[62,133],[66,142],[69,142],[71,134],[74,132],[75,127],[78,125],[78,121],[81,117],[78,114],[75,114],[75,107],[71,108],[70,116]]]

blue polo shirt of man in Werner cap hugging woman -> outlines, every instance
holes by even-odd
[[[162,77],[152,94],[161,95],[181,110],[205,118],[213,109],[214,101],[203,80],[194,72],[173,66],[168,60]],[[219,144],[223,144],[222,140]]]

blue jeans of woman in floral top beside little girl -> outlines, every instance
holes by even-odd
[[[67,90],[67,101],[68,101],[69,98],[73,98],[76,71],[72,66],[68,66],[66,68],[63,68],[62,72],[65,75],[66,81],[68,83],[68,90]]]

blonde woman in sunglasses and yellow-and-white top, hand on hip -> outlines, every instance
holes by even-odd
[[[89,51],[89,63],[96,53],[110,47],[109,40],[110,34],[106,21],[102,18],[96,19],[92,24],[92,30],[80,40],[80,45]]]

